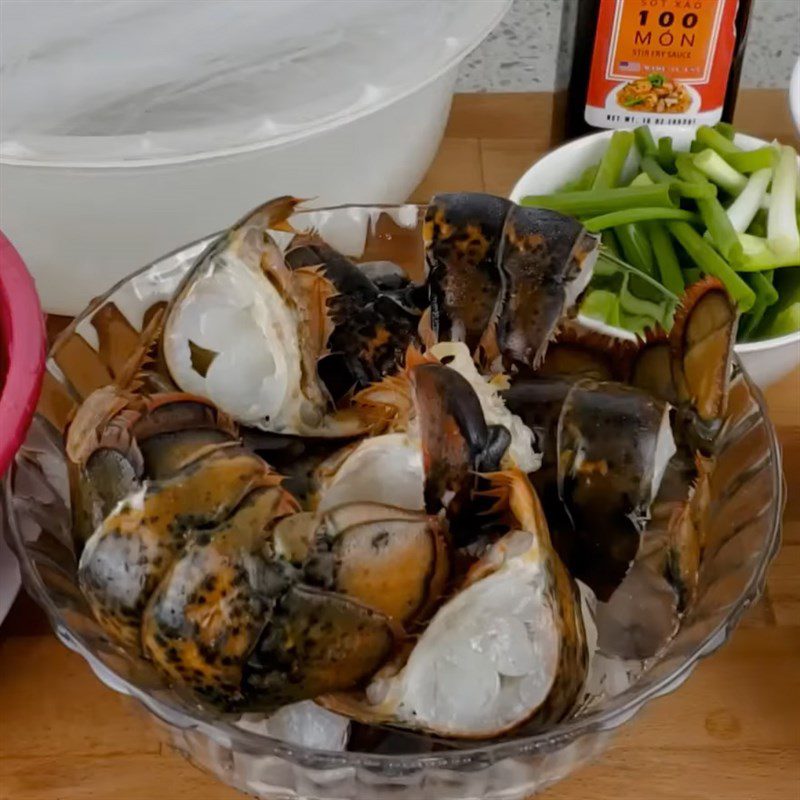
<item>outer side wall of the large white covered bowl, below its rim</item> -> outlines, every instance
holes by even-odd
[[[75,314],[141,264],[233,223],[270,197],[394,203],[419,183],[442,138],[455,69],[326,133],[189,162],[122,167],[3,164],[2,228],[45,310]]]

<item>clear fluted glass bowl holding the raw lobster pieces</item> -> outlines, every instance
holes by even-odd
[[[404,205],[305,210],[291,221],[318,229],[357,260],[394,261],[419,277],[421,219],[422,209]],[[677,689],[701,658],[728,639],[761,594],[779,545],[784,488],[763,398],[737,365],[711,480],[711,525],[696,602],[656,657],[618,690],[606,687],[578,716],[535,735],[512,734],[491,743],[421,734],[381,737],[372,729],[351,736],[347,750],[320,750],[240,727],[178,696],[146,662],[105,637],[78,589],[62,430],[76,400],[113,379],[153,308],[170,298],[211,238],[123,280],[58,338],[36,416],[2,492],[25,585],[56,635],[103,683],[138,700],[164,738],[193,763],[269,800],[522,800],[597,756],[645,703]],[[288,234],[277,239],[285,246]]]

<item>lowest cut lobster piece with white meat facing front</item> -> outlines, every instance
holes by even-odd
[[[379,673],[366,695],[326,697],[325,705],[367,722],[465,739],[569,713],[587,667],[577,593],[540,527],[544,517],[525,475],[489,477],[519,527],[470,572],[403,663]]]

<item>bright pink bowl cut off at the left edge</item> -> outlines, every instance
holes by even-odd
[[[22,443],[36,408],[46,344],[33,278],[0,233],[0,476]]]

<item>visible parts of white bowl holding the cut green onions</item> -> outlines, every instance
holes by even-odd
[[[511,199],[519,202],[525,195],[557,191],[600,160],[611,134],[612,131],[601,131],[583,136],[543,156],[517,181],[511,190]],[[677,150],[688,150],[689,143],[694,139],[694,130],[681,128],[669,131],[668,135],[672,136]],[[743,133],[737,133],[734,141],[744,150],[755,150],[769,144]],[[638,163],[636,148],[632,147],[623,169],[623,178],[632,177]],[[800,364],[800,331],[761,342],[737,344],[735,349],[750,377],[764,389]]]

